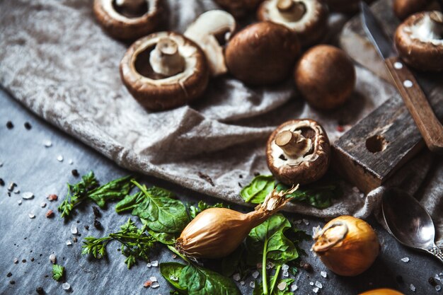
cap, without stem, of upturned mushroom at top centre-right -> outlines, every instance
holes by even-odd
[[[302,47],[315,44],[325,35],[328,28],[328,7],[319,0],[299,0],[304,4],[306,12],[298,21],[289,21],[282,16],[277,8],[279,0],[266,0],[257,11],[260,21],[280,23],[294,30]]]

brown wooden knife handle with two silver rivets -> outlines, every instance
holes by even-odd
[[[432,111],[417,80],[399,57],[389,57],[385,63],[427,147],[432,152],[443,154],[442,124]]]

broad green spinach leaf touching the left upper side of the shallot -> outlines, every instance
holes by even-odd
[[[157,233],[180,233],[189,222],[185,205],[177,199],[172,199],[173,194],[159,187],[147,189],[132,180],[142,191],[144,198],[132,197],[127,203],[120,203],[119,210],[132,209],[132,214],[144,219],[144,224]],[[137,206],[135,206],[137,204]]]

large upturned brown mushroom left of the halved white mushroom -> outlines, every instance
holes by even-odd
[[[178,33],[160,32],[132,44],[120,62],[120,75],[132,96],[149,110],[166,110],[205,91],[209,69],[195,42]]]

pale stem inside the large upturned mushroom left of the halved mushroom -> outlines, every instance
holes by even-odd
[[[168,37],[161,38],[149,55],[152,69],[164,76],[174,76],[185,69],[185,59],[178,52],[178,45]]]

